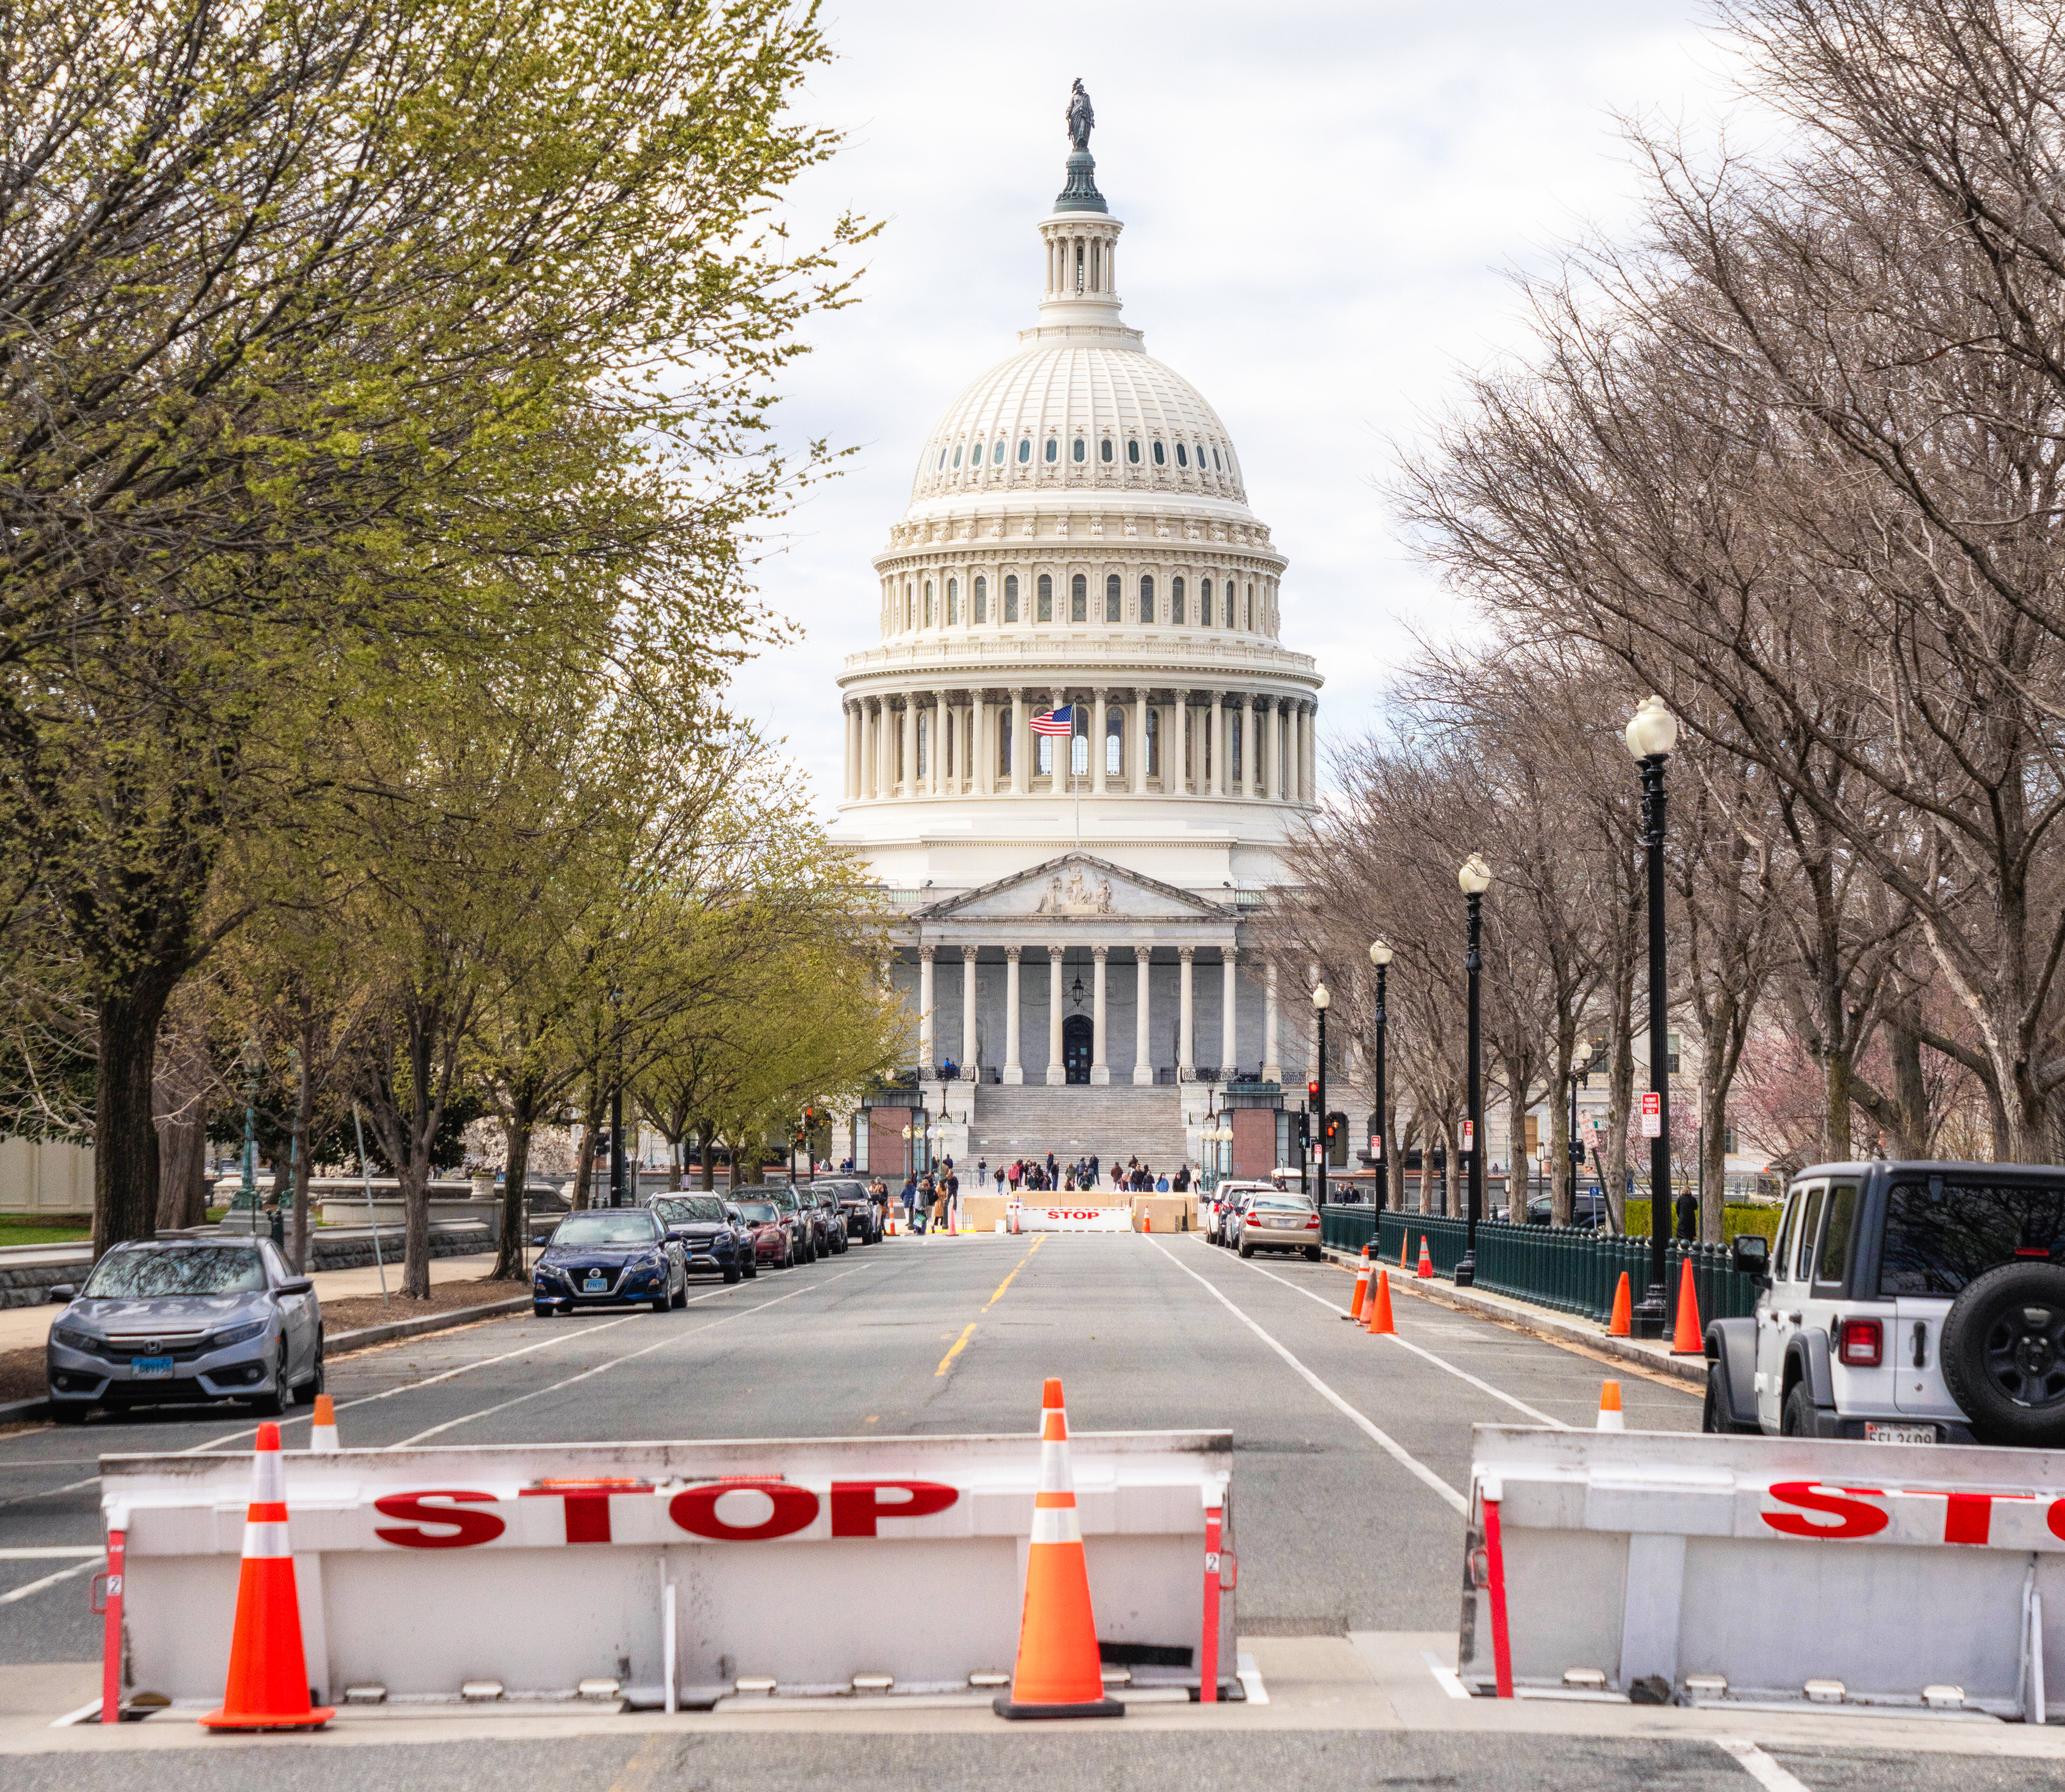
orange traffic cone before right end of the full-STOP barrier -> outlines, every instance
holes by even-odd
[[[1026,1608],[1018,1627],[1018,1668],[997,1693],[999,1718],[1123,1718],[1105,1697],[1090,1614],[1090,1565],[1082,1557],[1076,1482],[1068,1472],[1068,1410],[1061,1383],[1047,1379],[1039,1433],[1039,1497],[1026,1555]]]

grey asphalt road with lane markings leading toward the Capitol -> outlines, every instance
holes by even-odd
[[[909,1239],[737,1286],[681,1313],[512,1317],[341,1358],[347,1445],[1032,1431],[1059,1375],[1078,1431],[1227,1427],[1235,1437],[1239,1625],[1247,1637],[1454,1633],[1472,1422],[1590,1425],[1617,1375],[1633,1429],[1695,1429],[1664,1385],[1520,1332],[1400,1299],[1396,1338],[1338,1319],[1348,1278],[1241,1261],[1200,1239]],[[287,1445],[306,1437],[287,1420]],[[233,1408],[101,1418],[0,1437],[0,1664],[91,1662],[97,1563],[23,1550],[99,1536],[101,1451],[240,1447]],[[27,1588],[54,1579],[35,1592]],[[19,1598],[14,1594],[21,1594]],[[149,1726],[147,1726],[149,1728]],[[14,1755],[10,1786],[188,1782],[231,1792],[436,1784],[574,1786],[1326,1786],[1743,1788],[1712,1742],[1635,1736],[1355,1734],[706,1734],[553,1742],[235,1745],[202,1753]],[[76,1734],[76,1732],[74,1732]],[[114,1736],[109,1736],[114,1740]],[[277,1759],[283,1751],[293,1761]],[[1991,1788],[2055,1763],[1784,1753],[1766,1792]],[[145,1773],[149,1763],[149,1775]],[[1761,1771],[1761,1769],[1759,1769]]]

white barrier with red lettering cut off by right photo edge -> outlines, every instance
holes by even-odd
[[[2042,1722],[2059,1650],[2065,1453],[1476,1427],[1472,1691]]]

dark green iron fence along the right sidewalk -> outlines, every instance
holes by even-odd
[[[1435,1276],[1454,1280],[1468,1226],[1437,1214],[1328,1206],[1320,1210],[1320,1237],[1348,1255],[1361,1255],[1369,1245],[1373,1261],[1406,1276],[1419,1270],[1425,1239]],[[1677,1325],[1687,1257],[1702,1321],[1743,1319],[1755,1311],[1757,1284],[1737,1274],[1726,1245],[1673,1241],[1664,1276],[1664,1336]],[[1605,1325],[1613,1317],[1621,1276],[1627,1276],[1629,1297],[1640,1303],[1650,1284],[1648,1239],[1615,1239],[1576,1226],[1512,1226],[1503,1220],[1481,1220],[1476,1226],[1476,1286],[1491,1294],[1512,1294]]]

